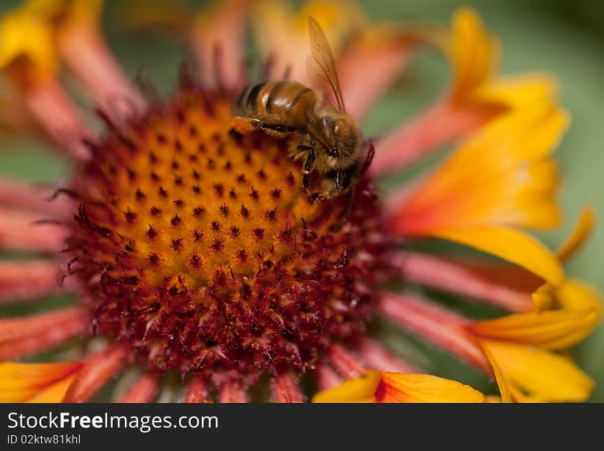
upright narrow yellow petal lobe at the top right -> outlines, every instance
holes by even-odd
[[[478,14],[461,8],[453,16],[452,62],[454,97],[463,97],[488,80],[498,62],[498,43],[492,38]]]

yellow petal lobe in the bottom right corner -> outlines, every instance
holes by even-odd
[[[545,349],[496,340],[481,340],[510,390],[542,402],[584,401],[594,382],[567,357]]]

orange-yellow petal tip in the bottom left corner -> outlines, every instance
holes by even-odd
[[[73,375],[81,362],[0,363],[0,402],[23,402]]]

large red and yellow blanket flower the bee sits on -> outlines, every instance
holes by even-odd
[[[219,402],[248,401],[264,374],[275,402],[307,400],[303,374],[316,382],[316,402],[490,399],[423,374],[387,349],[368,332],[373,316],[480,369],[496,380],[502,401],[589,396],[592,382],[561,352],[595,326],[599,294],[566,278],[562,263],[591,221],[583,217],[557,255],[525,231],[560,222],[551,153],[568,118],[550,78],[493,75],[496,46],[474,12],[458,12],[450,33],[369,25],[356,5],[333,2],[307,4],[293,16],[280,3],[252,8],[236,0],[195,14],[165,3],[139,16],[125,10],[131,25],[178,30],[196,57],[199,76],[184,69],[174,95],[151,100],[106,47],[100,6],[31,0],[0,23],[11,93],[75,160],[54,192],[0,181],[0,248],[38,255],[0,263],[0,301],[78,297],[55,311],[0,319],[0,400],[83,402],[126,369],[135,380],[114,395],[119,402],[154,400],[170,387],[170,373],[182,381],[176,399],[184,402],[209,402],[213,392]],[[334,20],[338,8],[349,8],[353,20]],[[260,11],[266,27],[258,26]],[[231,128],[231,104],[245,84],[244,21],[256,24],[264,56],[276,58],[265,72],[290,66],[304,82],[305,34],[292,25],[274,49],[269,43],[283,23],[309,14],[334,43],[356,119],[419,43],[439,45],[455,69],[437,106],[376,143],[353,190],[318,202],[288,156],[288,137]],[[32,30],[30,39],[23,30]],[[78,115],[60,71],[95,104],[101,133]],[[445,132],[427,134],[434,124]],[[377,176],[460,137],[443,165],[382,195]],[[322,183],[314,176],[310,192]],[[499,259],[428,255],[407,245],[432,238]],[[384,288],[393,280],[406,290]],[[417,296],[411,284],[512,313],[471,319]],[[69,362],[9,361],[74,338],[91,345]],[[544,384],[548,371],[559,378]]]

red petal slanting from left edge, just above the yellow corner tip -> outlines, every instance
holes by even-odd
[[[35,354],[69,340],[89,327],[89,316],[81,308],[0,319],[0,360]]]

